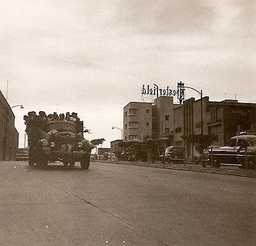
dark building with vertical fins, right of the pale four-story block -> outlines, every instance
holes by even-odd
[[[193,160],[195,146],[186,142],[189,135],[216,134],[218,141],[213,145],[227,145],[231,137],[242,131],[255,134],[255,116],[256,104],[237,100],[209,101],[209,97],[203,97],[202,101],[189,98],[174,108],[174,145],[184,146],[186,157]]]

